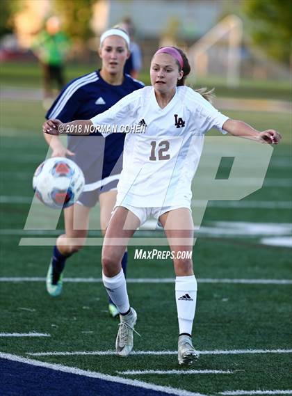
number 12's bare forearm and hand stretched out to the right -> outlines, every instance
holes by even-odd
[[[266,129],[266,131],[258,131],[243,121],[232,120],[229,118],[224,122],[222,129],[233,136],[239,136],[241,138],[248,138],[260,143],[278,144],[282,139],[281,134],[275,131],[275,129]]]

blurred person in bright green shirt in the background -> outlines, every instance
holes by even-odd
[[[61,90],[65,84],[64,63],[70,49],[70,40],[60,31],[58,17],[49,17],[45,29],[33,40],[32,49],[42,66],[44,104],[53,98],[52,86],[56,81]]]

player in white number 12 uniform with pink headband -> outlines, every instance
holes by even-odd
[[[102,251],[104,286],[120,312],[116,339],[118,356],[133,349],[136,311],[129,303],[127,283],[121,269],[122,255],[135,230],[152,214],[163,226],[174,254],[175,297],[179,321],[179,364],[198,358],[192,343],[197,281],[193,261],[177,254],[193,248],[193,219],[190,212],[190,184],[202,152],[204,134],[212,127],[234,136],[261,143],[277,144],[281,135],[274,129],[259,132],[222,115],[200,93],[184,86],[190,66],[184,53],[163,47],[153,56],[151,87],[124,97],[111,109],[87,121],[75,121],[79,130],[89,134],[97,125],[147,125],[144,134],[127,134],[123,169],[117,185],[117,202],[106,229]],[[43,132],[58,134],[67,129],[59,120],[48,120]],[[104,133],[104,136],[108,136]],[[189,256],[188,256],[189,257]]]

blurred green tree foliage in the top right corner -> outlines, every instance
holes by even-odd
[[[248,16],[255,44],[289,65],[292,49],[291,0],[245,0],[243,12]]]

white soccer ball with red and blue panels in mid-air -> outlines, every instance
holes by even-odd
[[[35,195],[44,205],[54,209],[76,203],[84,184],[84,175],[79,166],[64,157],[47,159],[33,175]]]

